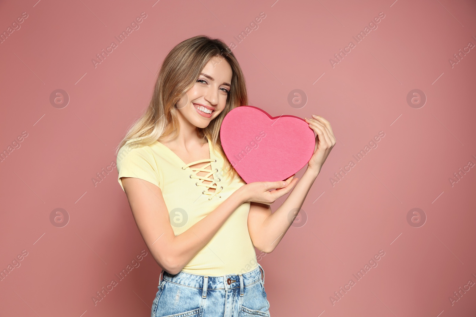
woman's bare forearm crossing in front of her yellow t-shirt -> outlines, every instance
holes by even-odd
[[[244,203],[240,190],[233,192],[202,220],[175,236],[169,244],[170,271],[177,274],[217,233],[228,217]]]

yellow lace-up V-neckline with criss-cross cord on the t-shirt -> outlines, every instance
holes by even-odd
[[[191,163],[188,163],[188,164],[185,164],[182,161],[182,159],[179,158],[177,154],[175,154],[175,152],[173,152],[172,150],[169,149],[168,146],[160,143],[159,141],[157,141],[157,142],[161,146],[165,147],[167,149],[166,151],[169,151],[169,153],[175,157],[175,159],[182,165],[182,170],[185,170],[185,169],[189,168],[192,171],[193,175],[190,174],[189,177],[192,178],[192,179],[196,178],[196,179],[200,180],[200,182],[196,182],[195,185],[206,187],[206,189],[202,192],[202,194],[203,195],[209,195],[210,197],[208,198],[208,200],[211,200],[213,197],[217,196],[218,193],[223,190],[223,186],[218,187],[217,182],[221,181],[220,178],[216,178],[215,176],[213,176],[213,179],[209,178],[214,173],[217,173],[218,169],[217,168],[213,169],[212,166],[211,166],[211,163],[212,162],[217,162],[217,159],[213,158],[213,156],[212,156],[211,141],[208,138],[207,138],[207,141],[208,141],[208,151],[209,151],[210,158],[209,159],[198,160],[198,161],[191,162]],[[204,162],[208,162],[208,163],[205,164],[202,167],[189,167],[190,165],[195,165],[197,163],[204,163]],[[208,166],[210,166],[210,170],[206,169]],[[209,172],[209,173],[205,176],[200,176],[200,175],[197,175],[197,172]],[[206,184],[206,183],[203,183],[203,181],[209,181],[211,183]],[[215,192],[208,191],[208,188],[214,188]],[[221,195],[218,195],[218,197],[221,198]]]

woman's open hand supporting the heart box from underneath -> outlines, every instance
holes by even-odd
[[[279,197],[290,192],[296,185],[298,178],[296,174],[290,176],[285,181],[279,182],[253,182],[245,184],[239,188],[243,195],[244,202],[260,202],[267,205],[273,204]],[[276,188],[274,191],[269,191]]]

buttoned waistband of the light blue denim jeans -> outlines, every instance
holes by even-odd
[[[232,289],[232,288],[241,288],[257,283],[261,279],[261,271],[263,271],[264,277],[264,270],[262,269],[261,265],[258,263],[258,267],[253,269],[252,271],[244,274],[227,274],[222,276],[206,276],[206,275],[198,275],[192,274],[188,272],[178,272],[175,275],[169,274],[166,271],[163,271],[163,279],[179,284],[182,286],[190,287],[190,288],[200,288],[204,289]],[[264,283],[264,280],[263,280]],[[205,287],[204,287],[205,286]]]

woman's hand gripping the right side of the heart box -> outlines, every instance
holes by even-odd
[[[329,121],[320,115],[312,115],[313,118],[305,118],[309,127],[316,132],[316,146],[314,147],[314,154],[307,163],[308,168],[320,172],[322,165],[327,159],[330,151],[336,144],[336,137],[332,132]]]

